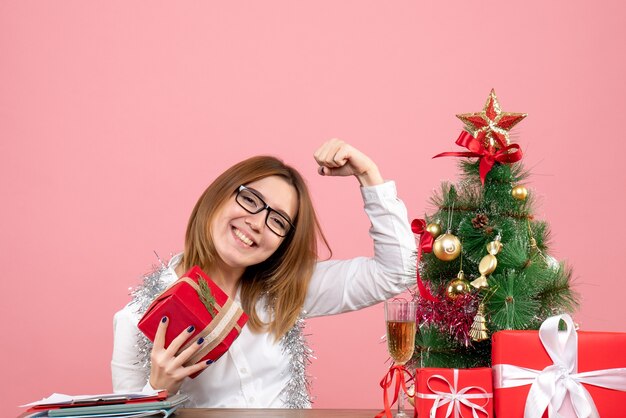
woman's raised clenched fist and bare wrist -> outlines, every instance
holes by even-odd
[[[339,139],[322,144],[313,154],[323,176],[355,176],[361,186],[384,182],[378,167],[367,155]]]

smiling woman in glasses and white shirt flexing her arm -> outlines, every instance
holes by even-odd
[[[414,285],[415,240],[395,184],[384,182],[369,157],[342,141],[323,144],[314,157],[319,174],[358,179],[374,257],[318,261],[317,238],[326,240],[300,174],[273,157],[231,167],[198,200],[184,253],[150,276],[136,303],[115,315],[116,392],[180,390],[195,407],[310,407],[299,318],[361,309]],[[249,320],[215,363],[184,367],[203,341],[176,356],[186,331],[164,348],[164,318],[150,347],[137,322],[151,299],[145,292],[153,297],[193,265],[239,301]]]

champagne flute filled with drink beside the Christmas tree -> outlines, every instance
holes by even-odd
[[[416,302],[392,300],[385,302],[385,322],[387,323],[387,349],[397,365],[404,365],[415,351]],[[403,375],[402,375],[403,376]],[[403,378],[403,377],[400,377]],[[396,418],[405,418],[404,395],[398,394]]]

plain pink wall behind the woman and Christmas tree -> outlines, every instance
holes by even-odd
[[[338,258],[371,254],[354,179],[316,175],[340,137],[395,179],[411,218],[454,179],[456,113],[492,87],[584,329],[626,331],[626,6],[582,1],[0,4],[0,405],[111,390],[113,313],[178,252],[204,187],[283,157]],[[377,408],[382,308],[310,321],[315,407]],[[3,414],[4,415],[4,414]]]

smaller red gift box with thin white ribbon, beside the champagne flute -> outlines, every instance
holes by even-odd
[[[493,417],[489,367],[417,369],[416,380],[415,402],[419,417]]]

